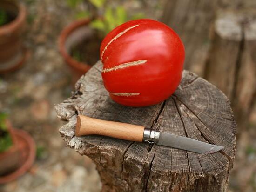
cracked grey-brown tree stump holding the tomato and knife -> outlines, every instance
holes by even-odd
[[[102,191],[224,192],[233,165],[236,123],[227,97],[206,80],[184,71],[176,92],[148,107],[126,107],[112,101],[98,62],[76,83],[72,97],[55,106],[67,146],[94,160]],[[74,136],[77,114],[131,123],[225,146],[197,154],[155,144],[104,136]]]

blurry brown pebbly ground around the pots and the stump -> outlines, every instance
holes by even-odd
[[[58,133],[63,123],[54,111],[54,104],[70,96],[73,89],[57,39],[61,29],[74,20],[75,10],[64,0],[23,2],[29,12],[26,37],[29,56],[20,70],[0,76],[0,109],[10,114],[14,127],[33,136],[39,155],[29,172],[0,186],[0,192],[99,192],[101,183],[93,162],[65,147]],[[131,0],[124,4],[129,10],[143,9],[148,17],[157,19],[162,14],[163,2]],[[230,192],[256,191],[255,130],[256,108],[249,131],[237,143]]]

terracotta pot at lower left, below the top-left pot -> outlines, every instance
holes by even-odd
[[[36,152],[34,139],[27,132],[14,129],[9,121],[7,126],[13,146],[0,153],[0,184],[10,182],[27,172],[34,163]]]

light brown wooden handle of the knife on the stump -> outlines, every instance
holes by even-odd
[[[94,119],[84,115],[77,116],[75,136],[105,135],[129,141],[143,140],[144,127],[128,123]]]

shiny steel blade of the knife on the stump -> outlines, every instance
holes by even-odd
[[[224,148],[223,146],[216,146],[167,132],[160,132],[160,138],[157,144],[202,154],[214,153]]]

